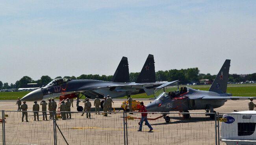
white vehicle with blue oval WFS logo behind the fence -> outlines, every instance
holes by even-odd
[[[227,145],[256,145],[256,111],[224,114],[220,121],[222,142]]]

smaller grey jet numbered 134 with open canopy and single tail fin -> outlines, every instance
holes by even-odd
[[[162,93],[146,107],[148,112],[170,112],[180,111],[189,112],[188,110],[206,110],[207,113],[215,112],[213,108],[224,105],[227,99],[249,99],[250,97],[234,97],[230,93],[226,93],[228,72],[230,60],[226,60],[211,84],[209,91],[195,90],[187,86],[178,87],[178,81],[169,82],[157,87],[154,91]],[[168,91],[169,89],[169,91]],[[168,92],[168,93],[167,93]],[[214,119],[214,114],[207,114]],[[190,117],[189,114],[183,114],[184,118]],[[170,121],[169,116],[164,116],[166,122]]]

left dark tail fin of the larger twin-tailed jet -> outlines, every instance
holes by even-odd
[[[111,82],[125,83],[130,82],[129,66],[127,57],[122,57],[117,70],[115,71]]]

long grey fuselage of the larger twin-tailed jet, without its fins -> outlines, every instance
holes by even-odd
[[[154,89],[163,83],[116,83],[98,80],[64,80],[52,81],[46,86],[39,88],[25,95],[22,100],[37,101],[42,99],[50,99],[62,95],[85,92],[88,96],[100,97],[110,95],[111,97],[122,97],[125,95],[144,93],[145,89]],[[136,86],[136,87],[132,87]],[[153,92],[153,91],[152,91]],[[86,95],[87,95],[86,94]]]

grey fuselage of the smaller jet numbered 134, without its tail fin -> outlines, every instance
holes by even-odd
[[[148,112],[170,112],[182,110],[202,110],[209,105],[218,108],[224,105],[226,99],[198,99],[205,96],[230,96],[231,94],[218,94],[211,91],[195,90],[187,87],[187,92],[177,97],[157,98],[147,105]]]

